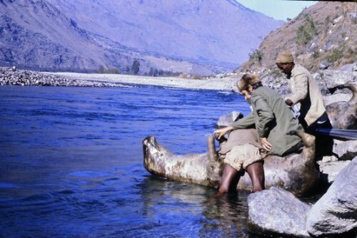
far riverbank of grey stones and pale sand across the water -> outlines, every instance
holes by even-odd
[[[0,85],[12,86],[70,86],[70,87],[128,87],[129,84],[171,88],[235,90],[234,76],[225,78],[191,79],[178,77],[130,76],[101,73],[69,73],[26,71],[0,67]]]

